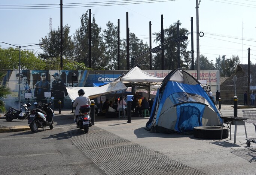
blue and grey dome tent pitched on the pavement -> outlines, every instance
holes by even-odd
[[[192,133],[197,126],[221,125],[222,119],[201,84],[186,71],[171,71],[158,89],[146,129]]]

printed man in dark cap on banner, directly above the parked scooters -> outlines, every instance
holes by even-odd
[[[46,81],[46,74],[41,73],[41,80],[36,82],[34,97],[38,102],[43,104],[47,103],[47,97],[45,97],[45,92],[51,92],[51,85]]]

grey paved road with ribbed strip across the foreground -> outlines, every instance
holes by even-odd
[[[238,117],[243,117],[238,109]],[[222,105],[224,116],[233,116],[231,105]],[[56,112],[57,113],[57,112]],[[246,146],[244,126],[232,139],[197,139],[193,135],[150,133],[149,118],[95,117],[95,125],[83,134],[73,124],[73,114],[55,117],[54,129],[0,133],[0,174],[208,174],[253,175],[256,144]],[[27,125],[27,121],[0,125]],[[248,137],[255,127],[246,123]]]

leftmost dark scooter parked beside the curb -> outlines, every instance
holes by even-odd
[[[22,102],[21,102],[21,104],[22,104]],[[24,109],[25,109],[25,113],[24,113],[23,116],[20,115],[22,110],[10,107],[9,111],[6,114],[4,114],[5,120],[6,121],[12,121],[13,119],[26,120],[30,115],[29,107],[31,106],[31,104],[26,103],[26,104],[21,105],[21,106],[23,106]]]

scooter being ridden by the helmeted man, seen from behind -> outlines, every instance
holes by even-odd
[[[80,130],[83,129],[85,131],[85,134],[88,133],[89,127],[92,126],[90,112],[91,107],[89,105],[80,106],[79,108],[79,115],[77,117],[77,127]]]

